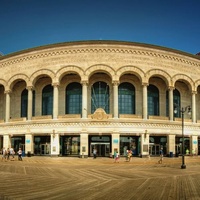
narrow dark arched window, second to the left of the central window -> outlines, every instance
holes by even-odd
[[[42,115],[53,114],[53,87],[47,85],[42,90]]]

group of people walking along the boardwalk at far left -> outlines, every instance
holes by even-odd
[[[19,148],[17,154],[18,154],[18,160],[22,161],[22,149],[21,148]],[[8,161],[8,160],[11,160],[11,161],[15,160],[15,151],[12,147],[7,148],[7,149],[5,147],[3,147],[2,161]]]

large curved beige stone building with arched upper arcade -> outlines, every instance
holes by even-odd
[[[198,55],[82,41],[1,56],[0,69],[1,148],[81,157],[94,147],[99,156],[131,149],[142,157],[163,148],[172,155],[182,153],[184,134],[185,150],[199,153]]]

